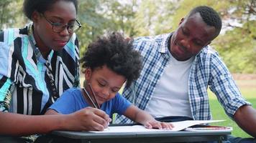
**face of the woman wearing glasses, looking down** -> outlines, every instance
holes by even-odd
[[[43,14],[35,11],[32,14],[34,23],[34,35],[40,51],[58,51],[63,49],[73,33],[69,33],[67,27],[60,32],[52,31],[50,23],[70,25],[76,23],[76,7],[71,1],[57,1],[51,9]]]

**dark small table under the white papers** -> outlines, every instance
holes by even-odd
[[[208,142],[227,140],[230,131],[178,131],[178,132],[129,132],[104,133],[53,131],[51,133],[59,142],[86,143],[164,143],[164,142]]]

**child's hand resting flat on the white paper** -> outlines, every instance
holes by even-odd
[[[157,120],[150,120],[144,124],[147,129],[173,129],[173,124],[168,122],[159,122]]]

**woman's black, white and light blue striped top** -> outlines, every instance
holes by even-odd
[[[6,29],[0,33],[0,111],[19,114],[44,114],[52,98],[52,69],[58,97],[70,87],[79,86],[79,49],[76,34],[61,51],[50,51],[44,59],[35,39],[24,29]],[[29,40],[29,36],[31,40]]]

